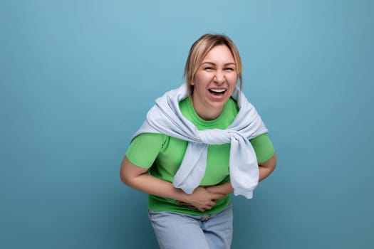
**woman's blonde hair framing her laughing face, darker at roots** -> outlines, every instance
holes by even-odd
[[[235,68],[237,70],[241,90],[243,80],[241,78],[241,58],[237,46],[235,46],[234,42],[228,36],[207,33],[195,41],[189,49],[185,65],[185,73],[183,73],[183,76],[186,78],[187,92],[189,95],[192,95],[192,92],[194,91],[191,83],[194,80],[194,75],[199,69],[202,60],[204,60],[205,56],[212,48],[219,45],[226,45],[234,57]]]

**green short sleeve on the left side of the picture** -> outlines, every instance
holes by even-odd
[[[164,135],[142,133],[133,139],[126,151],[128,160],[142,168],[150,168],[164,144]]]

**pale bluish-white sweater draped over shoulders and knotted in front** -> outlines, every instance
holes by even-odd
[[[189,142],[173,180],[173,185],[187,194],[192,194],[204,176],[208,144],[230,143],[229,173],[234,195],[252,198],[259,182],[259,166],[249,139],[268,132],[254,106],[236,88],[232,97],[237,100],[239,112],[234,122],[227,129],[199,131],[180,111],[179,102],[185,97],[188,97],[186,83],[158,98],[133,137],[144,132],[162,133]]]

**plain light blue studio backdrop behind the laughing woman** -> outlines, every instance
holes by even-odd
[[[277,169],[232,248],[374,244],[373,1],[1,1],[0,247],[156,248],[119,167],[189,47],[225,33]]]

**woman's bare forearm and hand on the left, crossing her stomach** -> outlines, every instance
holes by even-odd
[[[210,193],[204,188],[197,188],[192,194],[185,194],[182,189],[172,186],[172,183],[163,181],[147,173],[148,169],[132,164],[125,157],[120,167],[120,179],[124,184],[155,196],[172,198],[204,211],[211,209],[215,205],[214,200],[223,198],[223,194]]]

